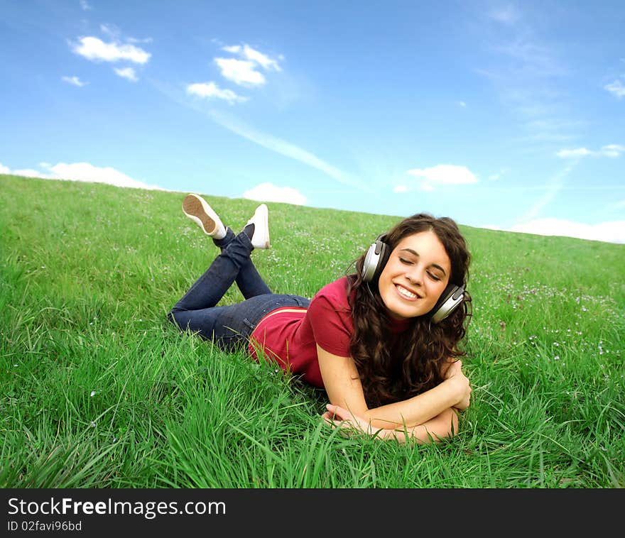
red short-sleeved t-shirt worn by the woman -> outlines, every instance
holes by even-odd
[[[408,320],[393,324],[391,340],[407,327]],[[286,372],[323,388],[316,344],[333,355],[349,357],[352,331],[347,277],[343,277],[322,287],[312,297],[308,309],[283,307],[266,314],[250,336],[249,353],[258,360],[260,350]]]

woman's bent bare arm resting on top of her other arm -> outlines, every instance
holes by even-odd
[[[342,407],[350,416],[364,419],[376,429],[418,427],[437,419],[452,407],[465,409],[469,405],[471,388],[469,380],[462,374],[460,361],[452,363],[445,381],[435,388],[401,402],[369,409],[354,360],[328,353],[320,346],[317,346],[317,356],[330,404]]]

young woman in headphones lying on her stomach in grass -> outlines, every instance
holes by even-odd
[[[355,273],[308,300],[273,294],[251,261],[255,248],[270,246],[265,204],[236,236],[197,194],[185,197],[183,212],[221,253],[169,312],[171,322],[227,351],[246,346],[256,360],[325,388],[322,416],[346,432],[425,443],[457,432],[471,395],[458,348],[470,256],[452,219],[403,219]],[[217,306],[233,282],[245,300]]]

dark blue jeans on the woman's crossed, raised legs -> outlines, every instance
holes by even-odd
[[[213,242],[221,248],[221,254],[168,313],[170,322],[180,330],[197,332],[220,348],[234,351],[249,343],[256,325],[272,310],[310,304],[298,295],[271,293],[252,263],[254,247],[245,232],[235,236],[228,228],[223,239]],[[218,307],[233,282],[237,282],[245,300]]]

